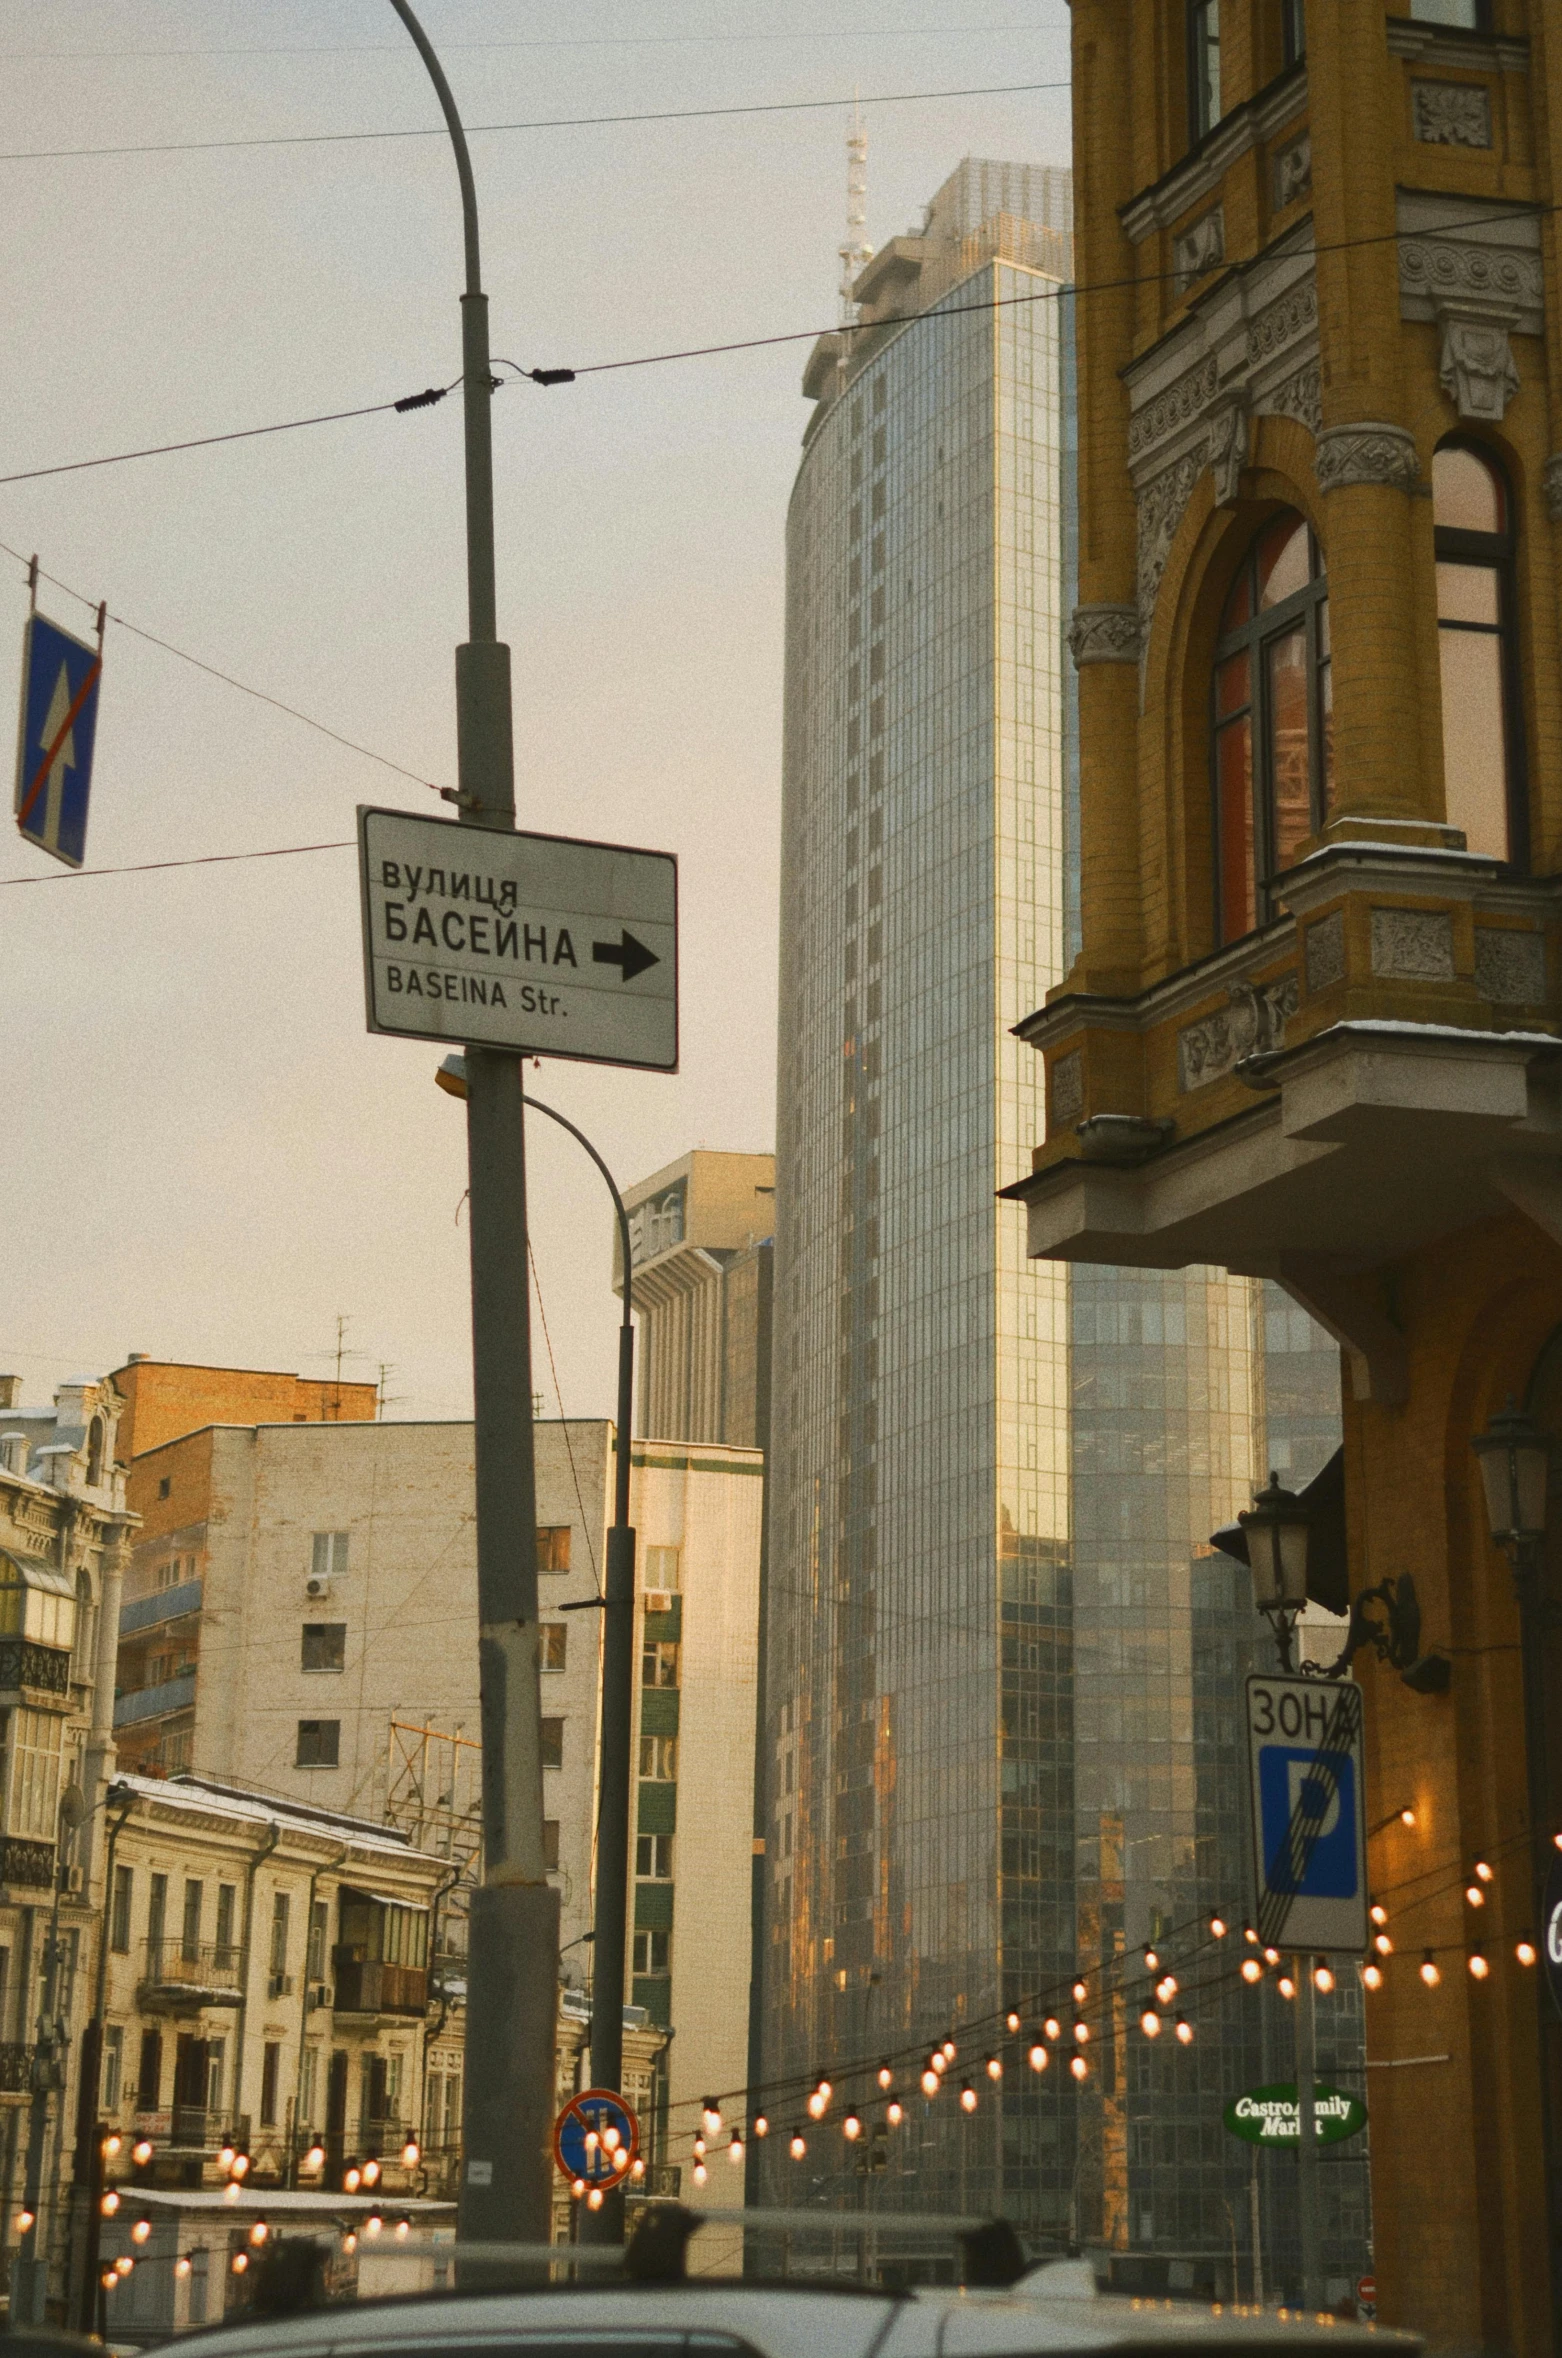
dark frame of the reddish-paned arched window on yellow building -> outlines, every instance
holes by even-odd
[[[1286,516],[1293,514],[1298,523],[1307,528],[1307,580],[1291,597],[1281,599],[1276,606],[1260,608],[1258,590],[1258,552],[1265,535]],[[1265,665],[1265,648],[1272,639],[1286,639],[1302,623],[1307,641],[1307,816],[1312,835],[1319,835],[1326,818],[1326,776],[1324,776],[1324,672],[1333,665],[1333,634],[1328,641],[1328,653],[1319,653],[1319,613],[1328,604],[1328,566],[1324,559],[1324,545],[1312,526],[1312,519],[1302,509],[1276,507],[1274,514],[1253,531],[1246,549],[1241,552],[1241,564],[1225,585],[1220,608],[1229,606],[1239,580],[1248,575],[1248,620],[1239,623],[1234,630],[1220,632],[1215,648],[1210,653],[1210,686],[1208,686],[1208,729],[1210,729],[1210,908],[1215,948],[1229,948],[1234,941],[1246,941],[1248,934],[1260,934],[1267,924],[1274,924],[1274,882],[1286,870],[1274,865],[1274,776],[1269,764],[1269,681]],[[1220,710],[1220,672],[1234,658],[1246,653],[1248,658],[1248,700],[1232,712]],[[1251,743],[1251,790],[1253,790],[1253,924],[1239,934],[1225,931],[1225,910],[1220,905],[1220,882],[1222,882],[1222,828],[1220,828],[1220,740],[1232,731],[1246,714],[1248,743]]]

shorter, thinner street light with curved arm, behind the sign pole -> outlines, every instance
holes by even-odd
[[[446,1056],[434,1075],[451,1096],[470,1089],[470,1049]],[[613,1528],[606,1535],[606,1596],[602,1629],[602,1759],[597,1799],[597,1903],[592,1910],[592,2084],[623,2092],[623,1983],[630,1901],[630,1719],[635,1714],[635,1530],[630,1526],[630,1417],[635,1408],[635,1266],[630,1214],[618,1181],[569,1115],[524,1096],[585,1148],[606,1181],[618,1214],[623,1257],[623,1323],[618,1328],[618,1453],[613,1460]],[[592,1599],[595,1603],[595,1599]],[[569,1608],[566,1608],[569,1611]],[[613,1995],[616,1993],[616,1995]],[[606,2000],[606,2004],[604,2004]],[[604,2193],[602,2209],[580,2214],[580,2242],[623,2242],[623,2188]]]

